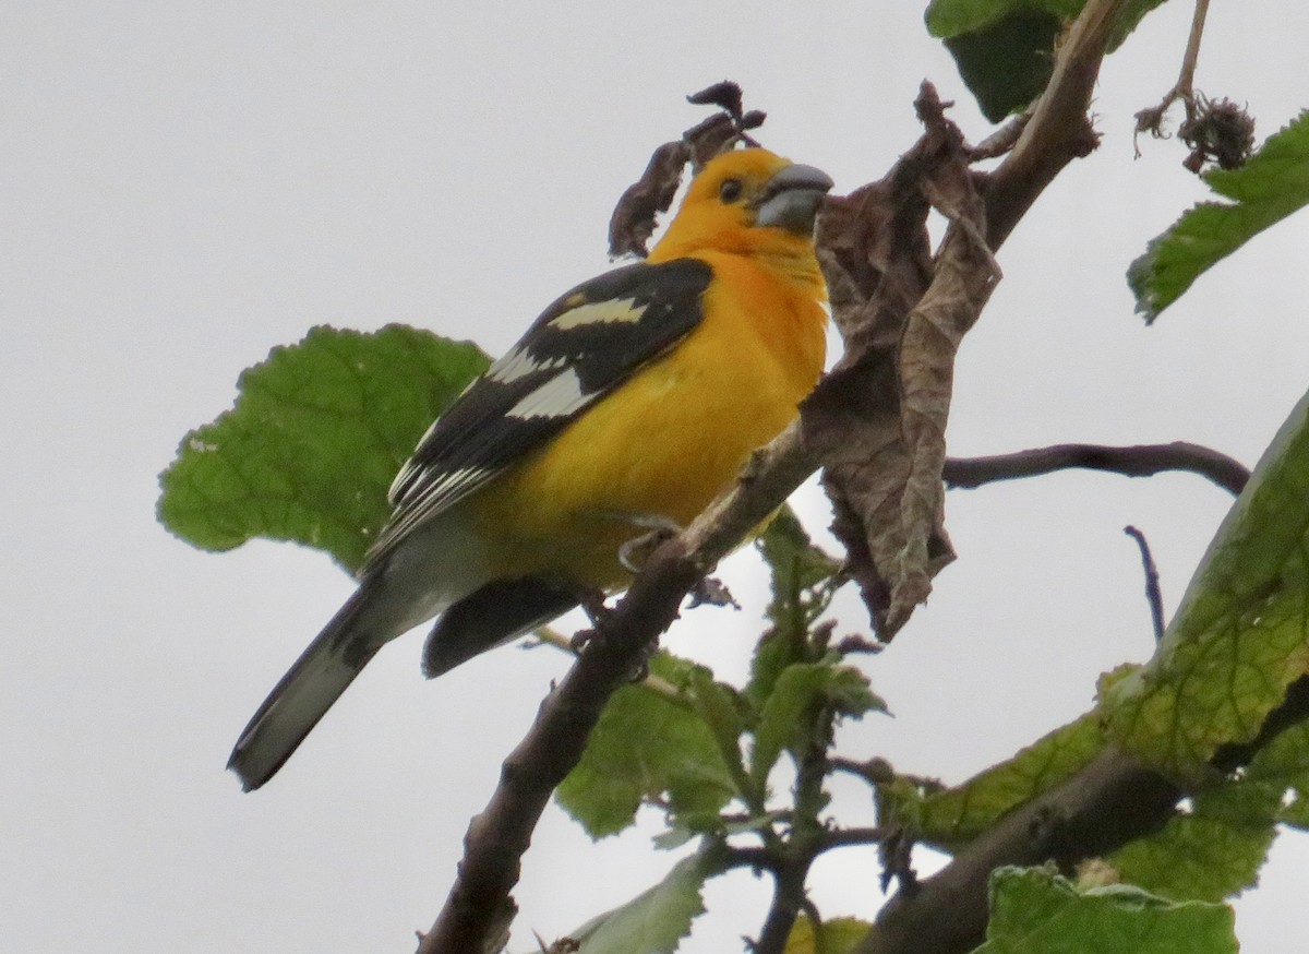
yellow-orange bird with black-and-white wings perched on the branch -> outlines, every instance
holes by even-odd
[[[423,668],[448,672],[626,588],[624,545],[732,486],[822,373],[831,187],[759,147],[709,160],[645,259],[555,300],[437,417],[357,590],[241,733],[246,792],[391,639],[435,617]]]

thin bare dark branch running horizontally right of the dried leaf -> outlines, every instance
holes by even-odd
[[[1134,447],[1055,444],[991,457],[950,457],[945,461],[942,476],[949,487],[973,489],[994,481],[1037,477],[1069,468],[1106,470],[1124,477],[1151,477],[1164,470],[1190,470],[1233,495],[1240,494],[1250,480],[1250,472],[1240,461],[1185,440]]]

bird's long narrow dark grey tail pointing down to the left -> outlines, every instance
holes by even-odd
[[[228,768],[241,777],[246,792],[276,774],[318,719],[386,643],[390,633],[377,638],[364,625],[364,611],[376,595],[374,586],[376,578],[364,581],[268,693],[241,733]]]

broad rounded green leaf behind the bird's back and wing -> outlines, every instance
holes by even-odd
[[[395,472],[487,363],[475,345],[401,325],[314,328],[246,370],[236,406],[182,439],[158,519],[200,549],[292,540],[356,569],[390,516]]]

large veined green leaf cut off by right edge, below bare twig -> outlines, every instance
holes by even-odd
[[[1309,671],[1309,394],[1264,452],[1144,667],[1102,693],[1110,735],[1203,781]]]

